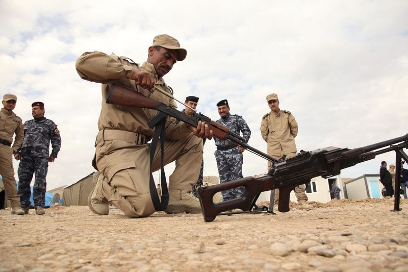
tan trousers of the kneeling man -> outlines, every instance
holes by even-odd
[[[129,140],[132,135],[118,130],[99,131],[96,165],[105,176],[102,187],[108,201],[128,217],[145,217],[156,211],[149,190],[150,144],[135,144]],[[178,161],[169,178],[169,190],[191,190],[200,172],[202,147],[202,140],[192,133],[182,140],[165,141],[164,165]],[[159,142],[151,170],[160,167]]]

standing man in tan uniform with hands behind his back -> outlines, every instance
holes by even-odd
[[[296,155],[295,137],[297,135],[297,122],[295,117],[289,111],[279,109],[279,100],[276,93],[266,96],[270,112],[262,117],[261,135],[268,143],[268,155],[281,158],[286,155],[290,158]],[[272,162],[268,161],[268,171]],[[301,205],[299,208],[312,209],[313,206],[307,204],[308,196],[304,192],[304,184],[295,187],[297,202]],[[279,190],[275,189],[275,203],[279,201]]]

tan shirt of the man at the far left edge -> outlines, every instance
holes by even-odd
[[[13,153],[15,153],[21,146],[24,138],[24,129],[22,120],[15,115],[14,112],[8,111],[5,108],[0,110],[0,139],[8,142],[13,142],[13,136],[16,135],[14,143],[11,146]]]

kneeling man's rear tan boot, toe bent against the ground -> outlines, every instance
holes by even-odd
[[[102,190],[103,181],[104,176],[100,175],[99,172],[95,172],[92,179],[93,188],[88,196],[88,207],[97,215],[109,214],[109,202],[105,198],[104,191]]]

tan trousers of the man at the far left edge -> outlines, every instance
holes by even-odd
[[[16,180],[14,179],[13,150],[0,143],[0,175],[3,177],[6,197],[10,200],[11,207],[20,206],[20,196],[17,194]]]

